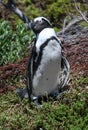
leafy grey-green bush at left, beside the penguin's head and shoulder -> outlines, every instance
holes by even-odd
[[[26,55],[32,34],[20,23],[13,31],[7,21],[0,22],[0,65],[15,62]]]

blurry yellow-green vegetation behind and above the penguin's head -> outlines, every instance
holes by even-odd
[[[24,8],[22,8],[23,6],[20,8],[31,19],[38,16],[45,16],[58,29],[62,28],[66,16],[72,18],[73,15],[79,15],[72,0],[42,0],[42,2],[41,0],[24,0],[23,2],[18,0],[18,6],[19,4],[24,5]],[[88,10],[86,2],[81,3],[78,1],[77,5],[83,12]]]

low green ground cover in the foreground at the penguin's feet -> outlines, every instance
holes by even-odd
[[[67,93],[43,102],[42,107],[21,100],[15,91],[0,95],[0,130],[87,130],[88,80],[73,81]]]

